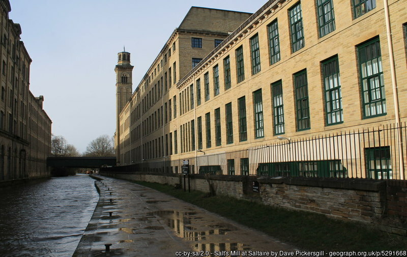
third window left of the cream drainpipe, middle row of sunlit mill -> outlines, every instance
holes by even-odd
[[[307,71],[294,74],[297,131],[310,129]]]

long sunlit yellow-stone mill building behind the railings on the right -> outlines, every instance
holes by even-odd
[[[118,109],[119,164],[403,179],[406,5],[280,0],[250,17],[192,7]]]

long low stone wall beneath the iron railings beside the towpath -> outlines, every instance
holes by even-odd
[[[184,185],[180,174],[108,173],[101,175],[135,181]],[[379,229],[407,235],[407,182],[366,179],[269,178],[211,175],[218,195],[265,205],[321,213],[328,217],[373,224]],[[252,183],[259,183],[254,192]],[[209,192],[203,175],[190,176],[191,190]],[[188,179],[186,179],[188,189]]]

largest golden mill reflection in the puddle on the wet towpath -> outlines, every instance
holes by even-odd
[[[237,227],[227,223],[206,224],[208,220],[205,219],[205,222],[202,222],[202,217],[197,216],[196,212],[156,211],[148,215],[160,216],[164,223],[176,232],[177,236],[199,242],[193,246],[196,251],[244,251],[250,249],[242,243],[221,243],[229,240],[223,236],[230,231],[236,231]],[[240,256],[240,253],[236,256]]]

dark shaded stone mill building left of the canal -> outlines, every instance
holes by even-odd
[[[30,92],[31,58],[20,41],[21,27],[9,19],[8,0],[0,0],[0,182],[47,177],[51,120],[43,96]]]

